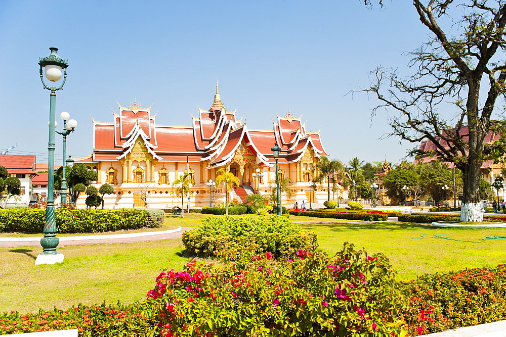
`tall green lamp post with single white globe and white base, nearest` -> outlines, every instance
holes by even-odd
[[[64,255],[56,251],[56,247],[60,239],[56,236],[57,228],[55,221],[55,205],[54,205],[54,165],[55,165],[55,110],[56,110],[56,91],[63,89],[63,85],[67,79],[67,61],[60,58],[56,52],[57,47],[50,47],[51,54],[39,60],[39,74],[40,80],[45,89],[51,91],[50,105],[49,105],[49,141],[48,141],[48,193],[47,193],[47,208],[46,208],[46,222],[44,224],[44,237],[40,239],[40,245],[43,247],[43,252],[37,256],[35,264],[54,264],[63,262]],[[44,71],[43,71],[44,69]],[[47,86],[44,82],[44,73],[46,78],[51,82],[58,82],[62,78],[62,84],[58,87]]]

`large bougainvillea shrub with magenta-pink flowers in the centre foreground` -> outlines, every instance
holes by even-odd
[[[224,266],[191,261],[147,294],[169,336],[401,336],[407,299],[382,254],[263,253]]]

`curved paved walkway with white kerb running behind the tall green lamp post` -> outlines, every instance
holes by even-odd
[[[82,236],[59,236],[60,244],[58,246],[84,246],[84,245],[104,245],[104,244],[126,244],[143,241],[167,240],[171,238],[180,238],[187,230],[193,227],[179,227],[177,229],[163,230],[157,232],[142,232],[129,234],[109,234],[109,235],[82,235]],[[0,247],[38,247],[40,246],[40,237],[0,237]]]

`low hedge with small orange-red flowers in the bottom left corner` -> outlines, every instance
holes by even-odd
[[[156,322],[142,314],[138,303],[131,305],[79,304],[67,310],[54,308],[38,313],[17,311],[0,314],[0,334],[78,329],[79,336],[154,336]]]

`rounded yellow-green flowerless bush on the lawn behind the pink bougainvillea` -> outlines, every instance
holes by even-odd
[[[186,250],[200,257],[236,259],[242,253],[272,252],[275,257],[318,247],[316,234],[294,225],[284,216],[213,217],[183,233]]]

